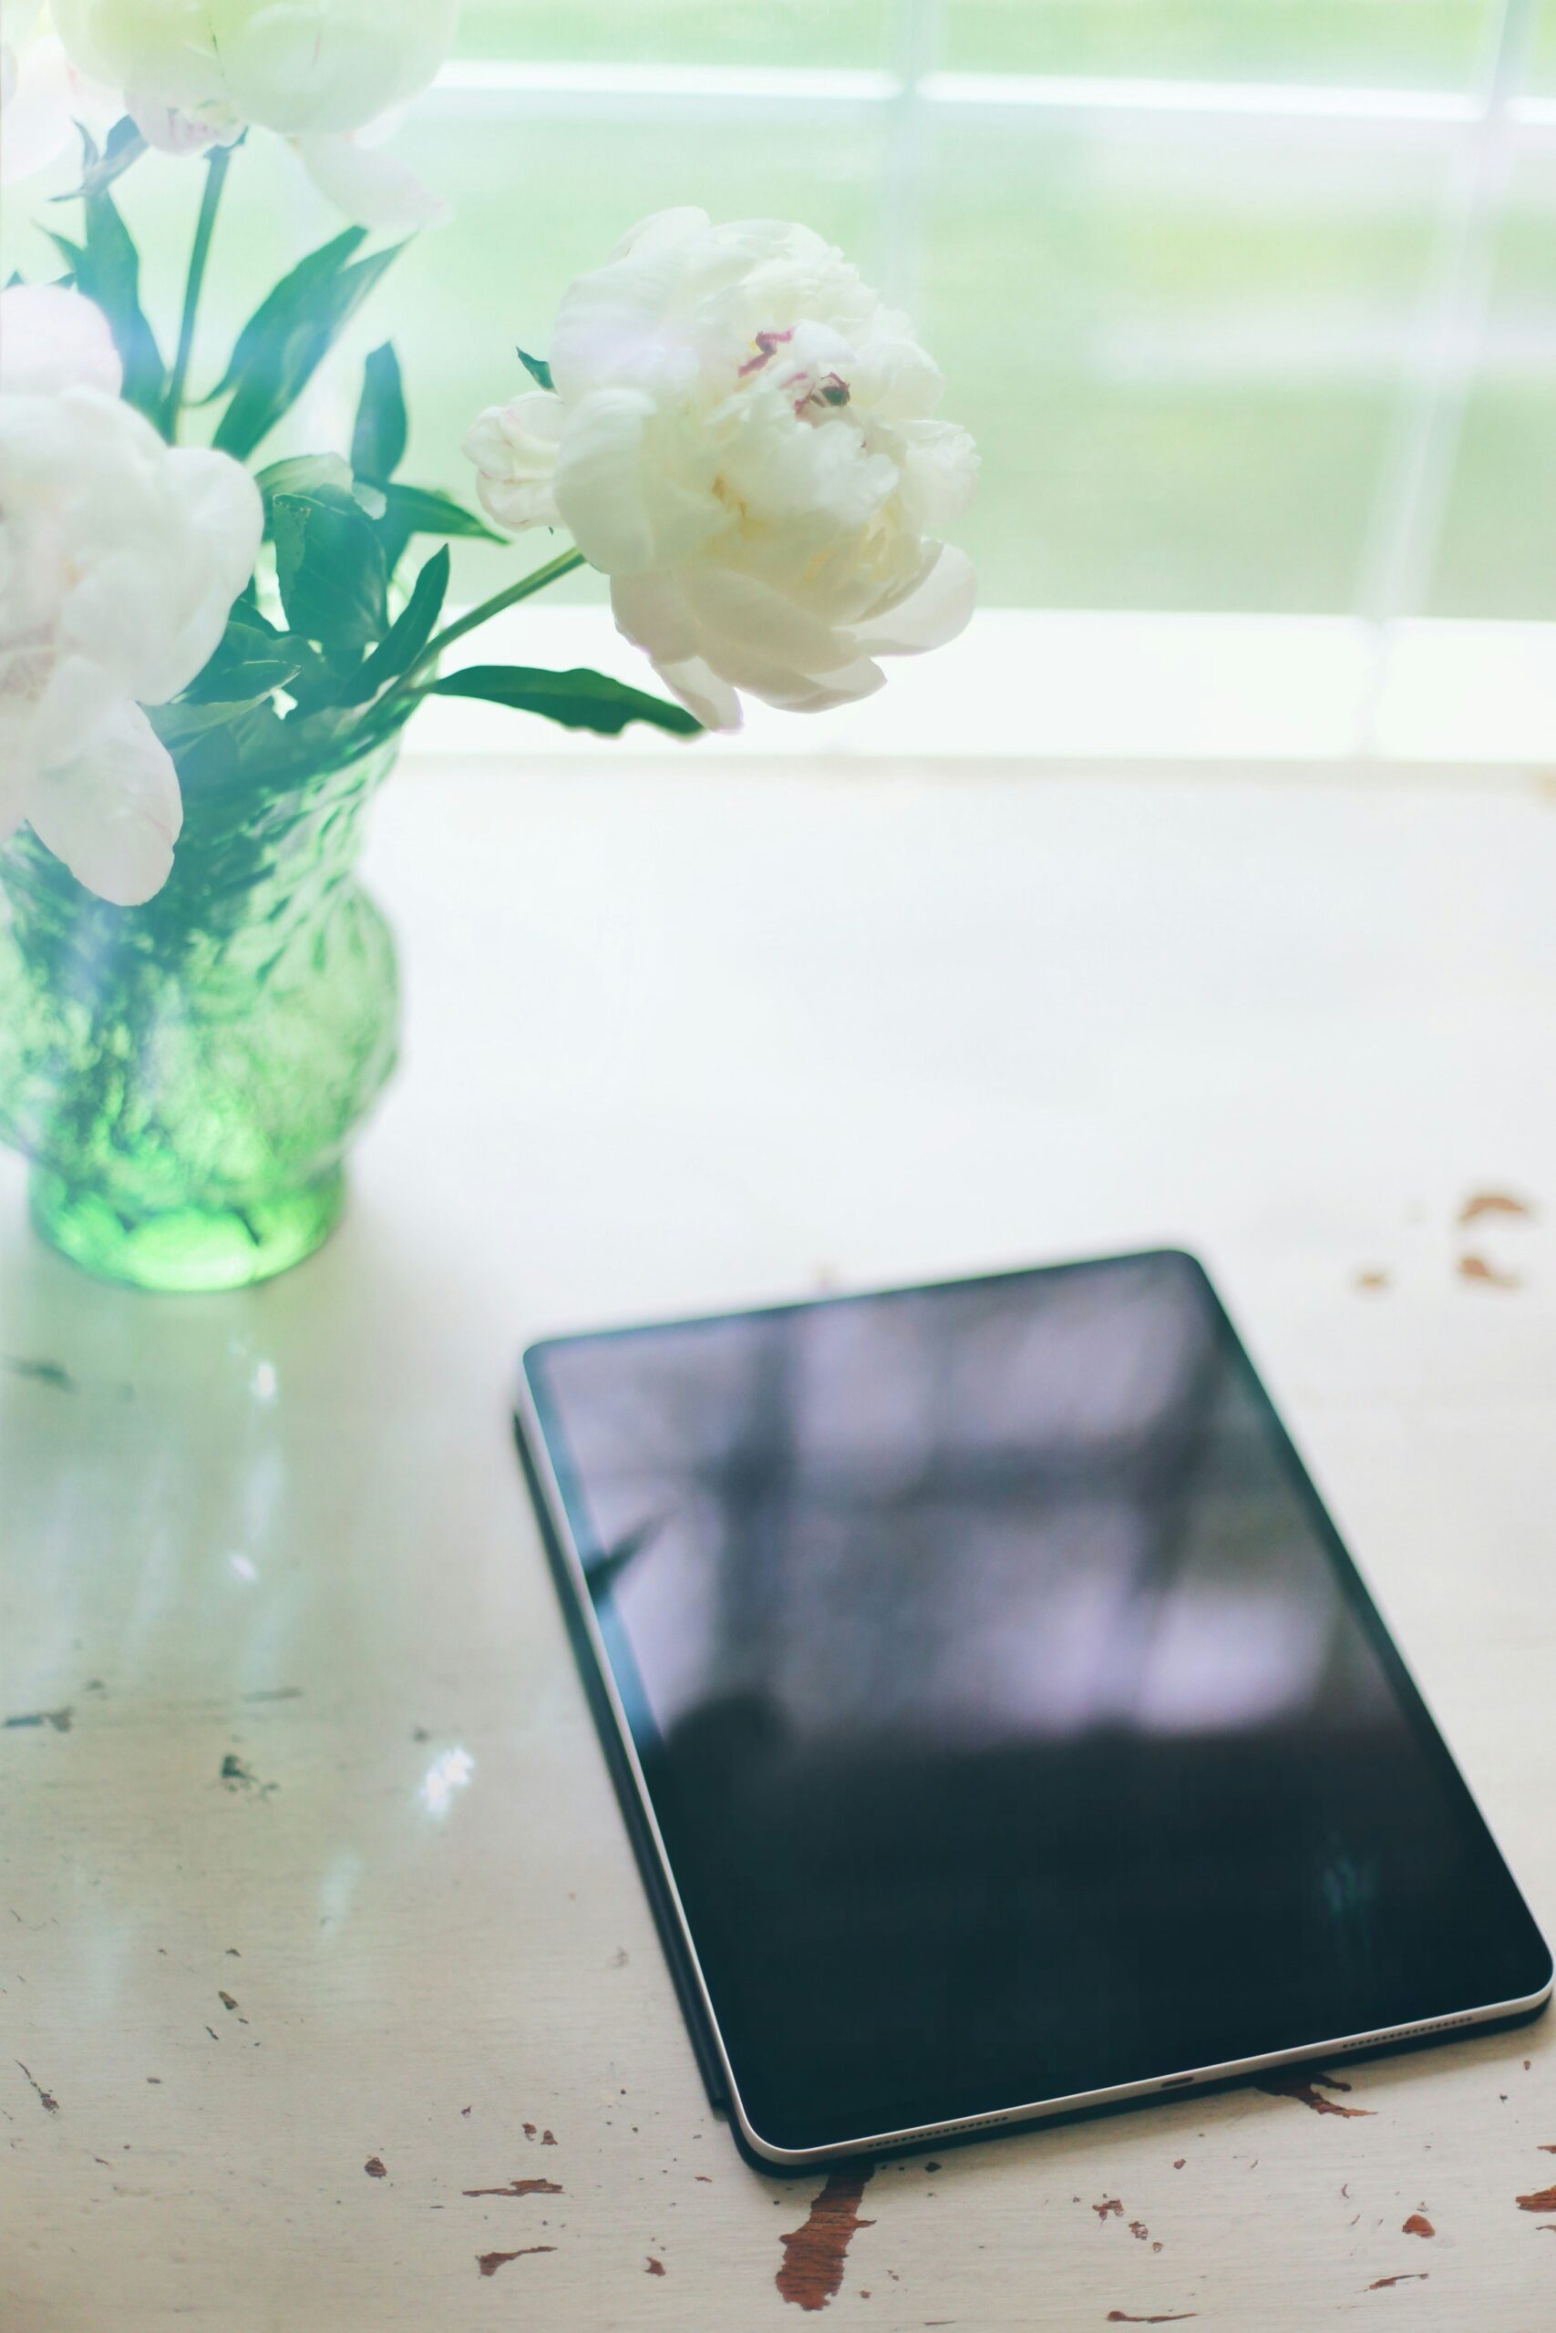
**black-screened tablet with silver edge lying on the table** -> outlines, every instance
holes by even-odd
[[[1547,1999],[1551,1955],[1190,1255],[560,1337],[525,1355],[518,1428],[693,2041],[756,2158]]]

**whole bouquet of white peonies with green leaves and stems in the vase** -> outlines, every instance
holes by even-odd
[[[194,1108],[145,1094],[133,1127],[121,1115],[96,1148],[61,1150],[58,1127],[91,1111],[79,1092],[65,1108],[40,1062],[58,1085],[63,968],[79,985],[82,933],[103,947],[86,894],[128,919],[114,961],[128,936],[154,938],[161,987],[133,1008],[105,1001],[86,1027],[75,1010],[63,1050],[79,1064],[98,1059],[105,1015],[156,1010],[168,1024],[168,929],[198,931],[205,894],[264,894],[275,924],[278,894],[308,889],[299,838],[315,833],[313,807],[338,803],[350,772],[378,772],[425,698],[693,735],[735,728],[742,693],[795,712],[863,698],[882,684],[877,658],[931,649],[970,614],[970,567],[940,539],[973,483],[970,441],[933,418],[940,378],[907,320],[805,226],[716,226],[686,208],[632,229],[567,289],[546,357],[513,355],[516,394],[469,429],[483,516],[404,478],[387,343],[366,359],[350,446],[266,460],[404,233],[439,215],[383,133],[436,72],[453,23],[455,0],[54,0],[51,26],[7,0],[7,175],[58,156],[72,117],[107,103],[117,119],[100,145],[79,131],[82,226],[54,233],[63,275],[0,294],[0,840],[14,835],[0,856],[0,992],[7,978],[26,989],[0,1036],[0,1129],[72,1204],[82,1190],[103,1199],[138,1253],[147,1218],[163,1246],[177,1246],[170,1215],[252,1218],[243,1192],[296,1176],[303,1153],[271,1127],[238,1146],[243,1169],[205,1160],[194,1194],[175,1166],[126,1183],[124,1160],[142,1160],[152,1134],[177,1164],[170,1125]],[[217,215],[250,135],[289,140],[352,224],[259,303],[222,376],[191,385]],[[147,147],[203,170],[170,336],[142,310],[114,198]],[[401,240],[369,247],[373,229]],[[532,530],[569,544],[450,616],[450,541]],[[609,576],[618,630],[667,698],[600,672],[446,670],[455,642],[586,562]],[[198,1020],[182,954],[180,1027]],[[266,966],[275,996],[301,980],[282,957]],[[196,1085],[254,1080],[254,1064],[217,1071],[210,1052],[187,1064]],[[392,1043],[366,1052],[380,1078]],[[371,1085],[362,1059],[357,1071]],[[313,1180],[334,1171],[315,1153]],[[103,1264],[98,1248],[77,1253]],[[145,1276],[124,1260],[103,1269]],[[231,1264],[212,1274],[231,1278]]]

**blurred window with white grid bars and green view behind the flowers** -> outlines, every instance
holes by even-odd
[[[779,212],[919,317],[984,457],[984,602],[1556,618],[1556,0],[467,0],[399,152],[455,224],[315,441],[394,334],[415,474],[464,488],[513,341],[625,224]],[[275,145],[243,175],[210,366],[331,226]],[[166,317],[189,175],[124,201]],[[19,219],[2,257],[47,273]],[[462,546],[457,588],[502,560]]]

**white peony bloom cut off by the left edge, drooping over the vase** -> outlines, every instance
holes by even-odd
[[[259,488],[119,401],[103,315],[0,292],[0,838],[23,819],[121,908],[168,880],[182,803],[142,705],[208,663],[254,569]]]

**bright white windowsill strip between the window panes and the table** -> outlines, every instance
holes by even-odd
[[[597,665],[653,686],[602,607],[516,609],[464,644],[471,663]],[[635,751],[677,740],[630,730]],[[1239,761],[1281,775],[1486,770],[1556,763],[1556,623],[1400,623],[1346,616],[1159,616],[982,609],[949,649],[891,658],[886,688],[830,714],[751,705],[719,742],[733,761]],[[502,707],[432,700],[408,751],[600,754],[616,740],[541,728]],[[1360,775],[1360,772],[1358,772]]]

